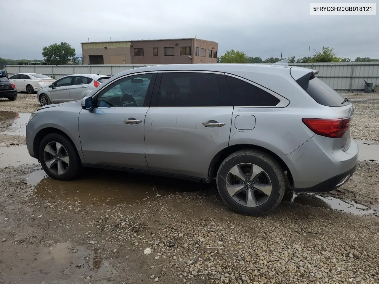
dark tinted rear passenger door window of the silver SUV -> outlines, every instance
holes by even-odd
[[[157,106],[230,106],[220,92],[218,78],[211,73],[163,73]]]

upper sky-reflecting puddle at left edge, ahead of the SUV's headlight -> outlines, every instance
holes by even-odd
[[[5,135],[25,136],[25,127],[30,114],[24,112],[0,111],[0,131]]]

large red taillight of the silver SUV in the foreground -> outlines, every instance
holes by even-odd
[[[314,133],[330,137],[342,138],[350,128],[350,118],[343,119],[302,119]]]

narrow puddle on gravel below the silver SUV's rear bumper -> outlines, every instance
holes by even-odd
[[[321,207],[327,209],[338,210],[341,212],[354,215],[375,215],[378,213],[376,209],[368,208],[354,201],[342,201],[334,197],[323,197],[317,194],[293,194],[291,202],[313,207]]]

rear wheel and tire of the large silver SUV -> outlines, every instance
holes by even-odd
[[[220,165],[217,189],[222,200],[234,211],[262,216],[274,210],[285,193],[285,173],[268,154],[240,150]]]

